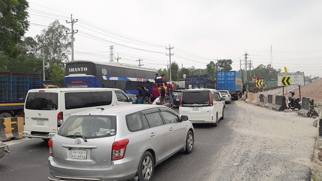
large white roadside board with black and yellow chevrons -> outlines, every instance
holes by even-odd
[[[285,73],[279,73],[277,76],[277,85],[278,86],[286,86],[288,85],[288,82],[285,82],[287,80],[284,79],[282,83],[283,77],[290,77],[288,80],[289,85],[305,85],[304,83],[304,72],[288,72],[287,75]]]

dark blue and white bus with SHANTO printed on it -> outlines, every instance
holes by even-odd
[[[138,94],[136,85],[154,84],[157,70],[120,62],[70,61],[66,63],[64,87],[119,88]]]

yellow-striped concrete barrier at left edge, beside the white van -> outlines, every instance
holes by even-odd
[[[24,130],[23,117],[0,118],[0,140],[21,139]]]

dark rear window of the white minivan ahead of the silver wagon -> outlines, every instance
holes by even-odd
[[[187,91],[182,93],[182,104],[209,104],[209,91]]]

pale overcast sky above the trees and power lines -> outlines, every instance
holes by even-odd
[[[239,70],[247,52],[255,68],[272,60],[275,69],[322,77],[322,1],[28,2],[25,36],[35,37],[55,19],[68,28],[71,14],[77,19],[74,60],[108,62],[114,45],[119,62],[138,65],[143,59],[144,67],[167,68],[170,45],[171,62],[180,68],[231,59],[232,69]]]

